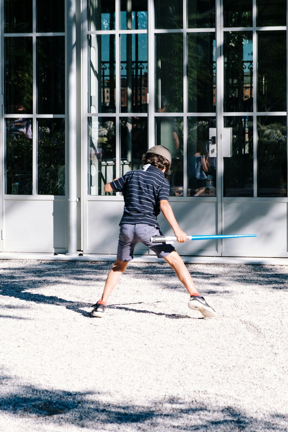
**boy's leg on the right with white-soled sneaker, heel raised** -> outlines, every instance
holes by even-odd
[[[164,259],[175,270],[178,279],[189,292],[189,308],[201,312],[204,317],[216,317],[217,313],[208,305],[204,297],[202,297],[197,291],[193,279],[180,255],[176,251],[173,251],[164,257]]]

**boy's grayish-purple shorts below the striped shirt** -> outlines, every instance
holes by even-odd
[[[117,249],[117,259],[119,261],[131,261],[135,245],[140,241],[148,246],[158,258],[167,257],[175,251],[172,245],[166,243],[151,243],[152,235],[162,235],[161,231],[155,226],[137,223],[130,225],[125,223],[120,226],[119,243]]]

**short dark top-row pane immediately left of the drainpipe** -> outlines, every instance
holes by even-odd
[[[37,32],[65,32],[64,0],[37,0]]]

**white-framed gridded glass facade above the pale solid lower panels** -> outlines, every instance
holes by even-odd
[[[119,199],[104,184],[153,145],[171,152],[172,202],[287,198],[286,1],[220,3],[77,3],[77,146],[92,200]],[[3,12],[4,192],[64,196],[67,5],[3,0]]]

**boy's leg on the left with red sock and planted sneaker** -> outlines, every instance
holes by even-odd
[[[129,261],[119,261],[118,259],[115,261],[113,267],[108,273],[101,300],[98,300],[98,302],[92,306],[94,307],[91,312],[93,317],[101,318],[104,316],[109,295],[117,285],[121,274],[123,274],[127,269],[128,262]]]

